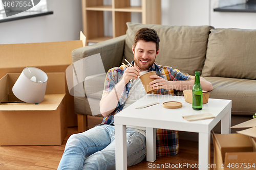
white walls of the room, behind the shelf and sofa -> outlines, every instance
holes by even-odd
[[[256,29],[256,13],[214,12],[214,8],[243,3],[245,0],[162,0],[162,25]],[[104,0],[111,4],[111,0]],[[132,6],[141,4],[132,0]],[[81,1],[48,1],[54,14],[0,23],[0,44],[78,40],[82,30]],[[105,35],[112,35],[112,18],[105,18]],[[132,13],[132,22],[141,22]]]

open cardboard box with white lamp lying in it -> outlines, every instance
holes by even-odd
[[[19,75],[0,79],[0,145],[61,145],[67,134],[65,74],[47,74],[45,99],[37,105],[12,93]]]

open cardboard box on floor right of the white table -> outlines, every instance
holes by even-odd
[[[212,133],[215,169],[256,169],[256,118],[231,128],[249,128],[233,134]],[[233,167],[233,168],[232,168]]]

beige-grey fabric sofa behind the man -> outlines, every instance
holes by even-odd
[[[73,62],[100,53],[105,72],[120,66],[124,58],[131,62],[134,35],[143,27],[155,29],[160,37],[160,53],[155,61],[157,64],[172,66],[189,75],[200,71],[201,76],[214,86],[210,98],[232,100],[232,125],[252,118],[256,112],[256,30],[127,22],[126,35],[74,50]],[[84,68],[89,65],[94,64],[86,63]],[[87,76],[84,86],[90,87],[92,83],[95,85],[93,91],[85,92],[86,96],[75,97],[77,114],[101,116],[99,101],[104,78],[105,74]],[[182,92],[178,91],[177,95],[182,95]],[[94,113],[89,99],[94,103]],[[215,128],[217,133],[219,127],[217,125]]]

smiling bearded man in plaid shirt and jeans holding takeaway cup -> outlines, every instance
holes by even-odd
[[[159,42],[153,29],[142,28],[136,33],[132,46],[134,67],[121,65],[110,69],[106,75],[100,101],[102,124],[68,139],[58,169],[115,169],[114,115],[146,95],[140,75],[156,71],[157,76],[151,76],[156,80],[150,83],[157,90],[156,94],[174,95],[174,90],[193,87],[194,77],[155,63]],[[200,81],[203,90],[212,90],[211,83],[203,78]],[[146,156],[146,132],[145,127],[126,128],[127,165],[132,166]],[[156,131],[157,156],[176,155],[179,149],[177,131]]]

